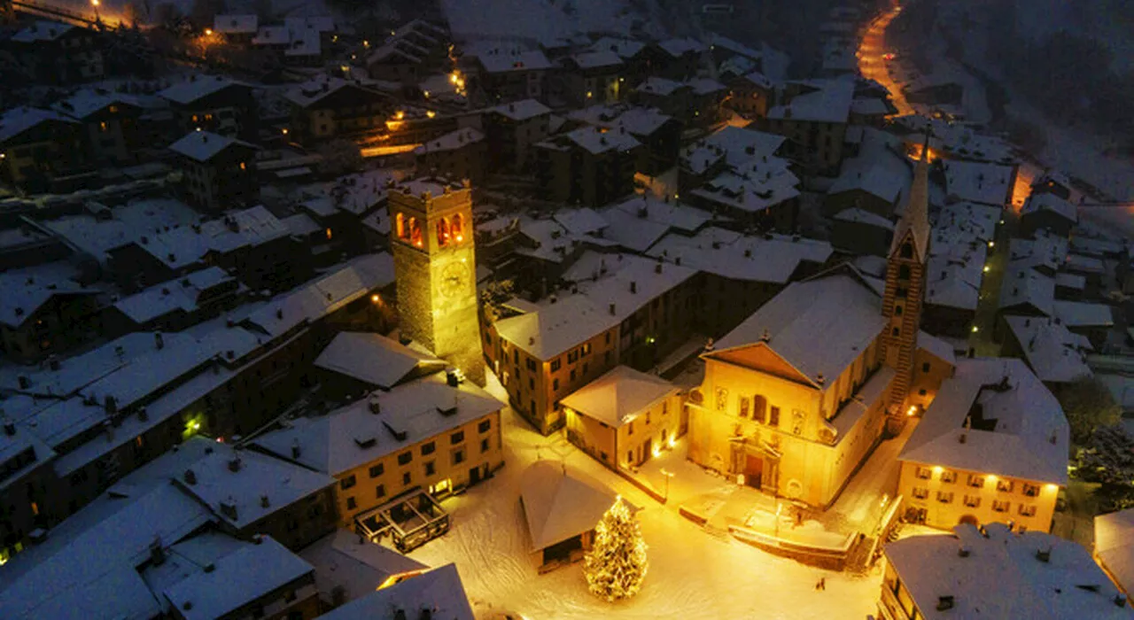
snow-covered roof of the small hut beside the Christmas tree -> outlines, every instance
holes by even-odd
[[[617,498],[609,486],[564,462],[532,464],[519,481],[528,549],[539,551],[594,529]]]

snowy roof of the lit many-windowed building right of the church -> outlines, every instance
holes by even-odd
[[[957,360],[898,458],[1066,485],[1068,442],[1059,401],[1023,359],[966,358]]]

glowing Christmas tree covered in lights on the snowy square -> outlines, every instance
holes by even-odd
[[[594,528],[594,545],[583,559],[591,592],[613,602],[637,594],[649,562],[638,523],[621,498]]]

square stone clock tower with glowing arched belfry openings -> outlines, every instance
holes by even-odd
[[[389,209],[401,333],[483,385],[472,189],[415,179],[390,188]]]

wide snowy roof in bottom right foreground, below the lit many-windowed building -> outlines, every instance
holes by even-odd
[[[962,547],[968,553],[958,553]],[[1043,532],[962,524],[953,535],[909,536],[885,551],[928,620],[1131,617],[1128,606],[1115,604],[1118,589],[1086,549]],[[1040,551],[1049,553],[1047,560],[1038,558]],[[942,596],[951,597],[950,609],[939,610]]]

